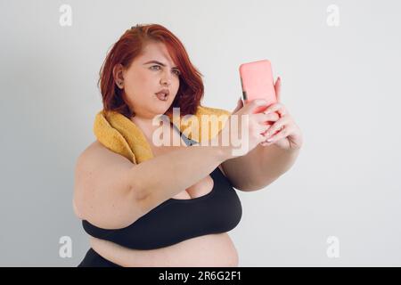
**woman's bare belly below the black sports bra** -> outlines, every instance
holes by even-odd
[[[208,234],[166,248],[138,250],[90,237],[91,247],[111,262],[130,267],[238,266],[238,253],[227,232]]]

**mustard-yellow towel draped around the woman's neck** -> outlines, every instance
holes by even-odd
[[[213,125],[207,119],[202,120],[201,116],[203,115],[216,115],[216,118],[220,118],[221,124]],[[231,112],[227,110],[199,106],[194,115],[179,116],[178,119],[168,115],[168,118],[185,136],[201,142],[201,138],[210,140],[215,137],[225,126],[226,119],[230,115]],[[210,117],[206,116],[206,118]],[[199,124],[193,124],[192,120],[197,120]],[[209,134],[202,136],[202,127],[204,130],[209,129]],[[142,130],[133,121],[118,112],[99,111],[94,118],[94,135],[110,151],[119,153],[132,163],[137,164],[153,158],[151,146],[146,141]]]

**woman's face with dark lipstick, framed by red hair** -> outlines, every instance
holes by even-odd
[[[154,42],[145,45],[143,53],[132,61],[129,69],[122,71],[124,93],[135,117],[154,118],[164,114],[176,97],[179,74],[166,45]],[[156,93],[164,88],[169,94],[166,101],[161,101]]]

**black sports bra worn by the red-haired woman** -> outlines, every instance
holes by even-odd
[[[102,229],[83,220],[84,230],[95,238],[134,249],[163,248],[201,235],[231,231],[240,223],[241,201],[218,167],[210,176],[214,186],[206,195],[168,199],[121,229]]]

